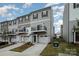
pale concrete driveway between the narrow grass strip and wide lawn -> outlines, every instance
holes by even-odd
[[[47,44],[35,44],[34,46],[28,48],[21,55],[23,56],[39,56]]]

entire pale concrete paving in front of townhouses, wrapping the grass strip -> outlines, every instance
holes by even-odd
[[[34,46],[26,49],[23,52],[14,52],[10,51],[15,47],[21,46],[23,43],[18,43],[3,49],[0,49],[0,56],[39,56],[43,49],[47,46],[47,44],[35,44]]]

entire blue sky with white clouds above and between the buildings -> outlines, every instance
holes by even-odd
[[[60,33],[60,25],[63,24],[63,3],[0,3],[0,22],[12,20],[48,6],[52,6],[53,9],[55,33]]]

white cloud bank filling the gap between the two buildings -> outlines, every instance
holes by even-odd
[[[61,3],[48,3],[45,7],[51,6],[53,9],[55,33],[60,33],[61,25],[63,24],[63,11],[64,4]]]

